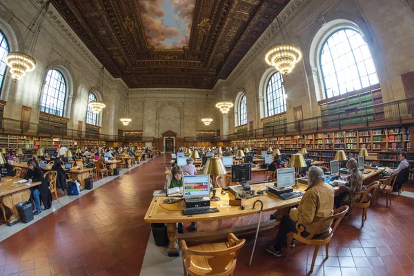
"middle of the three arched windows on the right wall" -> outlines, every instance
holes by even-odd
[[[270,77],[266,89],[268,116],[286,112],[282,74],[276,72]]]

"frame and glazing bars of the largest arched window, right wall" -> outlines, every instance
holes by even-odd
[[[331,32],[331,34],[329,34],[328,36],[326,36],[326,39],[324,39],[324,41],[322,42],[322,44],[321,44],[321,47],[320,47],[320,49],[319,49],[319,53],[317,53],[319,56],[318,56],[318,60],[319,60],[319,68],[320,68],[320,72],[321,72],[321,78],[322,78],[322,83],[324,84],[324,87],[323,87],[323,89],[324,89],[324,96],[325,96],[325,99],[330,99],[330,98],[335,98],[336,96],[344,96],[344,94],[347,94],[347,93],[350,93],[350,92],[354,92],[354,91],[357,91],[357,90],[359,90],[359,89],[354,89],[353,91],[346,91],[345,93],[343,93],[343,94],[341,94],[341,91],[340,91],[340,89],[339,89],[339,80],[338,80],[338,76],[337,76],[337,70],[336,70],[336,68],[335,68],[335,63],[334,63],[334,59],[333,59],[333,56],[332,56],[332,53],[331,53],[331,51],[329,51],[329,54],[331,55],[331,59],[332,59],[332,63],[333,63],[333,67],[334,67],[334,70],[335,70],[335,79],[336,79],[336,81],[337,81],[337,87],[338,87],[338,89],[339,89],[339,94],[338,95],[332,95],[331,97],[328,97],[328,93],[327,93],[327,89],[326,89],[326,81],[325,81],[325,74],[324,74],[324,70],[322,69],[322,52],[324,51],[324,47],[325,47],[325,45],[326,45],[326,43],[328,43],[328,40],[329,39],[331,39],[331,37],[334,35],[334,34],[336,34],[337,32],[341,32],[341,31],[346,31],[346,30],[351,30],[351,31],[353,31],[353,32],[356,32],[357,34],[359,34],[361,37],[362,37],[362,39],[364,39],[364,36],[363,36],[363,34],[359,31],[359,30],[356,30],[355,28],[351,28],[351,27],[348,27],[348,26],[346,26],[346,27],[343,27],[343,28],[338,28],[338,29],[336,29],[336,30],[334,30],[333,32]],[[376,84],[378,84],[378,83],[380,83],[380,79],[378,78],[378,74],[377,74],[377,67],[375,67],[375,62],[374,62],[374,59],[373,59],[373,55],[372,55],[372,53],[371,53],[371,49],[369,48],[369,45],[368,45],[368,43],[366,43],[366,46],[368,47],[368,50],[369,50],[369,52],[370,52],[370,55],[371,55],[371,59],[372,59],[372,62],[373,62],[373,65],[374,65],[374,67],[375,67],[375,75],[377,76],[377,83],[369,83],[369,85],[368,86],[365,86],[364,87],[364,85],[362,85],[362,77],[361,77],[361,74],[359,73],[359,68],[358,68],[358,63],[357,63],[357,60],[355,59],[355,54],[354,54],[354,49],[353,49],[353,47],[351,46],[351,43],[350,43],[350,41],[349,41],[349,38],[348,38],[348,36],[346,36],[346,41],[348,41],[348,44],[349,44],[349,47],[350,47],[350,49],[351,49],[351,54],[352,54],[352,56],[353,56],[353,62],[354,62],[354,65],[357,67],[357,74],[358,74],[358,81],[359,81],[359,84],[361,85],[361,88],[360,89],[364,89],[364,88],[366,88],[366,87],[370,87],[370,86],[372,86],[372,85],[376,85]],[[329,47],[329,46],[328,46]],[[361,46],[359,46],[359,47],[357,47],[357,48],[360,48]],[[329,48],[329,50],[331,50],[331,47]],[[337,57],[336,59],[338,59],[339,57]],[[336,60],[335,59],[335,60]],[[368,60],[368,59],[364,59],[363,60],[363,62],[364,61],[366,61],[366,60]],[[365,66],[365,63],[364,63],[364,66]],[[348,66],[348,68],[349,68],[350,66]],[[367,77],[369,76],[370,74],[368,74],[368,72],[367,72]],[[356,80],[356,79],[355,79]],[[368,82],[369,82],[369,77],[368,77]]]

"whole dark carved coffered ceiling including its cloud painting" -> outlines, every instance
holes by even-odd
[[[219,78],[227,78],[288,1],[52,3],[110,74],[128,87],[212,89]]]

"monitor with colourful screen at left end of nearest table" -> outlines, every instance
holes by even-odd
[[[183,198],[204,198],[210,196],[210,176],[198,174],[183,176]]]

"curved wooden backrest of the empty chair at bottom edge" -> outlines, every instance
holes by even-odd
[[[221,275],[226,272],[226,268],[230,262],[237,259],[240,249],[244,246],[246,240],[239,240],[233,233],[228,234],[228,244],[230,247],[216,251],[195,251],[190,250],[186,246],[186,242],[181,240],[183,248],[183,258],[186,259],[186,264],[190,266],[191,255],[204,256],[208,258],[208,265],[211,271],[208,275]]]

